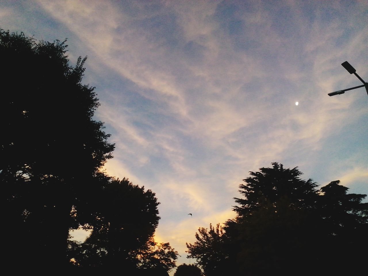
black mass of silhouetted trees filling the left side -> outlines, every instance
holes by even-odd
[[[86,57],[70,66],[65,42],[0,29],[3,263],[13,271],[167,275],[177,252],[153,239],[159,202],[151,190],[103,173],[114,145],[93,120],[99,103],[81,82]],[[79,227],[92,229],[84,243],[70,240]]]

